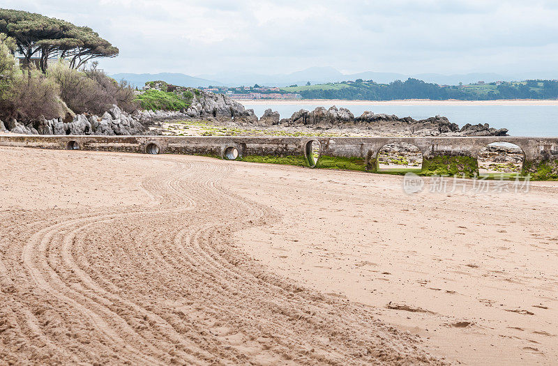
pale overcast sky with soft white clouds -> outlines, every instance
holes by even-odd
[[[557,73],[557,0],[2,0],[90,26],[109,73]]]

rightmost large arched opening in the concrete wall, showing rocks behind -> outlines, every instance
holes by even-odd
[[[525,153],[509,142],[492,142],[477,154],[478,174],[494,176],[519,176],[523,169]]]

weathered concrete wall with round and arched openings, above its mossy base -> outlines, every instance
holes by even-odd
[[[223,158],[225,149],[236,147],[242,155],[306,156],[306,144],[317,140],[321,155],[377,158],[382,146],[391,142],[407,142],[417,146],[423,158],[433,156],[469,156],[492,142],[508,142],[522,148],[525,162],[558,159],[558,137],[181,137],[181,136],[0,136],[1,146],[37,148],[68,148],[77,142],[81,150],[123,151],[146,153],[149,144],[156,144],[159,153],[208,155]]]

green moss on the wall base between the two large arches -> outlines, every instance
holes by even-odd
[[[462,175],[470,178],[478,174],[478,162],[470,156],[432,156],[423,159],[423,169],[419,175]]]

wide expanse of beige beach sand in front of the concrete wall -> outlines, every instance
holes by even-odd
[[[354,171],[0,154],[0,364],[558,357],[558,183],[405,195]]]

